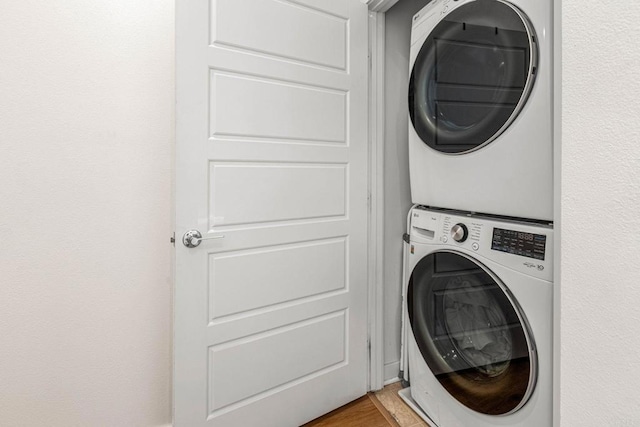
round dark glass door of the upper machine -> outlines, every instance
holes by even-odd
[[[448,154],[490,143],[524,106],[536,58],[532,27],[515,6],[501,0],[459,6],[429,34],[411,72],[416,133]]]

